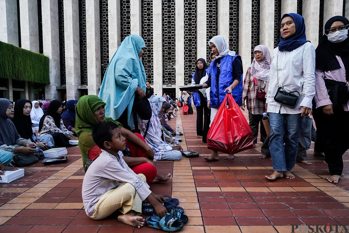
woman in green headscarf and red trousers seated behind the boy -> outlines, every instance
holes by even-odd
[[[131,131],[122,128],[122,125],[114,121],[110,117],[104,116],[105,103],[99,99],[96,95],[85,95],[80,98],[75,106],[76,119],[75,119],[75,132],[79,138],[78,146],[82,155],[82,163],[86,172],[88,166],[95,160],[99,154],[101,154],[101,148],[99,148],[92,139],[92,130],[95,125],[101,122],[114,122],[121,128],[122,136],[127,140],[127,143],[133,145],[133,147],[139,148],[135,151],[145,151],[146,157],[153,160],[154,151],[151,147],[140,138],[140,135],[132,133]],[[134,150],[131,150],[131,154]],[[161,182],[169,180],[168,176],[156,175],[156,168],[153,162],[146,157],[140,158],[137,155],[132,154],[133,157],[124,157],[125,162],[131,169],[142,169],[144,172],[139,172],[147,177],[148,182]],[[137,157],[137,158],[134,158]],[[154,174],[155,171],[155,175]],[[138,173],[138,174],[139,174]],[[149,174],[149,175],[147,175]],[[156,176],[156,177],[155,177]],[[167,179],[168,177],[168,179]],[[155,178],[155,179],[154,179]],[[167,180],[166,180],[167,179]]]

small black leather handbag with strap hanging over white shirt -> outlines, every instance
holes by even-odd
[[[299,97],[302,95],[303,85],[302,85],[302,91],[300,93],[298,91],[286,92],[283,87],[280,87],[279,86],[279,70],[277,67],[278,60],[279,60],[279,51],[277,51],[277,58],[276,58],[277,92],[274,96],[274,100],[277,103],[280,103],[281,105],[284,105],[286,107],[295,108],[299,100]]]

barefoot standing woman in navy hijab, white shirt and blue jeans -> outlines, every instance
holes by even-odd
[[[300,125],[302,117],[310,114],[315,94],[315,49],[306,40],[303,17],[295,13],[284,14],[280,32],[281,42],[273,52],[266,101],[270,118],[269,149],[274,170],[266,176],[268,180],[283,176],[295,178],[290,171],[295,167]],[[300,94],[299,99],[294,101],[295,107],[284,105],[288,99],[282,95],[283,90]]]

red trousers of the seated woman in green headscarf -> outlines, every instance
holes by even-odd
[[[135,133],[144,143],[146,140],[143,138],[143,136],[139,133]],[[131,151],[132,157],[144,157],[146,156],[146,150],[144,150],[142,147],[139,147],[138,145],[135,145],[131,143],[130,141],[126,141],[126,146]],[[156,177],[157,170],[154,165],[151,165],[150,163],[142,163],[140,165],[131,167],[134,173],[140,174],[142,173],[147,178],[147,183],[150,184],[153,182],[153,180]]]

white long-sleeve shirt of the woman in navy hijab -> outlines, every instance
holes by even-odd
[[[276,60],[279,52],[278,70],[279,86],[287,92],[302,91],[295,108],[289,108],[277,103],[274,96],[277,91]],[[303,44],[292,51],[279,51],[276,47],[273,51],[272,65],[270,69],[269,86],[267,93],[268,112],[281,114],[298,114],[303,109],[299,106],[312,108],[312,99],[315,95],[315,49],[310,42]]]

